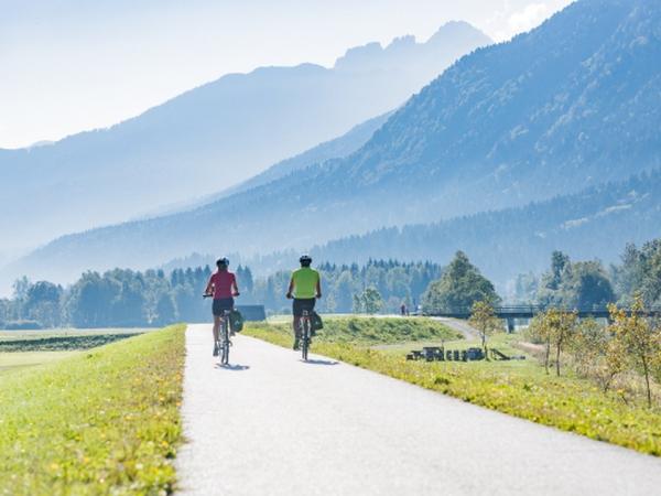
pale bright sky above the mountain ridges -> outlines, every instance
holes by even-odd
[[[137,116],[224,74],[463,20],[496,41],[571,0],[0,0],[0,148]]]

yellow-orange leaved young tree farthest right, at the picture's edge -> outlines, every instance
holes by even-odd
[[[642,373],[647,392],[648,407],[652,406],[652,391],[650,376],[654,364],[661,354],[661,337],[659,330],[650,325],[644,317],[644,304],[641,295],[637,295],[631,305],[630,313],[618,309],[615,304],[609,306],[610,330],[614,338],[626,352],[631,365]]]

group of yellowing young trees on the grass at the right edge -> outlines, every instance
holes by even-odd
[[[621,391],[635,391],[638,378],[644,385],[648,406],[652,406],[652,384],[661,385],[661,322],[648,315],[642,295],[631,308],[609,305],[609,324],[579,320],[576,312],[551,308],[537,315],[530,336],[544,348],[543,363],[549,374],[552,362],[561,375],[563,355],[568,355],[576,373],[608,391],[619,380]]]

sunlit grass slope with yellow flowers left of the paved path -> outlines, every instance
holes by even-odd
[[[0,377],[0,494],[170,494],[183,325]]]

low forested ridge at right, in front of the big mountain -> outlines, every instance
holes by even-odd
[[[447,262],[460,249],[503,288],[520,272],[541,272],[556,249],[615,262],[627,242],[661,236],[659,192],[661,171],[524,207],[351,236],[314,249],[313,256],[361,262],[379,254]]]

